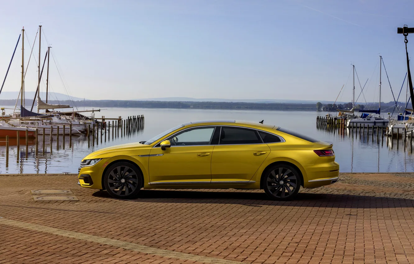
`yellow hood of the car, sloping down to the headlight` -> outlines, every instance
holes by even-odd
[[[149,145],[144,145],[138,142],[121,144],[121,145],[116,145],[116,146],[109,146],[109,147],[92,152],[91,154],[86,156],[84,159],[111,158],[117,155],[128,155],[128,156],[141,155],[139,152],[137,152],[140,149],[149,150],[150,147]]]

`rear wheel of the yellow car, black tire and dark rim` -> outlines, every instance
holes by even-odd
[[[296,168],[288,164],[276,164],[265,170],[262,186],[272,200],[290,201],[301,188],[301,177]]]

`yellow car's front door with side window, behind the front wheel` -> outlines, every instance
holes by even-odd
[[[165,150],[155,145],[149,154],[150,184],[210,184],[215,129],[215,126],[192,127],[166,138],[171,147]]]

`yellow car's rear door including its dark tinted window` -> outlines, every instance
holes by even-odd
[[[212,184],[248,183],[269,153],[257,130],[222,126],[213,150]]]

